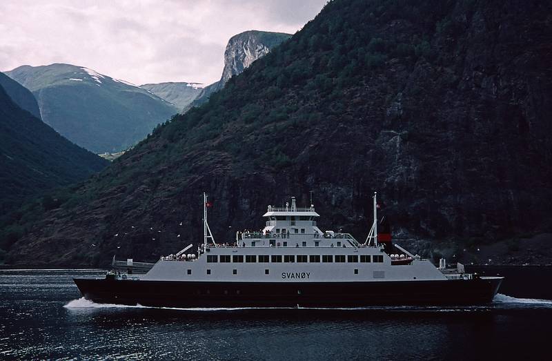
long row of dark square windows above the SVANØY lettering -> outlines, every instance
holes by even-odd
[[[219,258],[220,257],[220,258]],[[280,263],[282,260],[286,263],[306,263],[306,262],[313,262],[313,263],[319,263],[320,260],[322,260],[323,263],[331,263],[331,262],[337,262],[337,263],[344,263],[347,262],[362,262],[362,263],[368,263],[368,262],[375,262],[375,263],[381,263],[384,262],[384,256],[383,255],[270,255],[270,258],[268,255],[232,255],[232,262],[233,263],[243,263],[244,260],[246,263],[268,263],[268,260],[270,259],[270,262],[273,263]],[[207,262],[208,263],[230,263],[230,255],[208,255],[207,256]]]

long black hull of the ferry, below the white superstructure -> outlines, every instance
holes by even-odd
[[[75,278],[97,303],[157,307],[467,305],[493,300],[502,278],[407,282],[178,282]]]

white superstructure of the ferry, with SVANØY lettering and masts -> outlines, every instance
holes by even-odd
[[[229,243],[215,243],[207,223],[204,195],[204,243],[195,255],[184,248],[161,260],[140,280],[190,282],[386,282],[446,280],[428,260],[391,244],[374,222],[366,242],[349,233],[322,231],[315,207],[268,206],[264,228],[236,233]]]

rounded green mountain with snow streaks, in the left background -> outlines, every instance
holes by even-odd
[[[20,66],[6,74],[32,91],[46,124],[94,153],[125,150],[177,113],[149,90],[81,66]]]

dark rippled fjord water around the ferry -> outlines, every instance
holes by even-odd
[[[152,309],[83,300],[72,277],[0,271],[0,360],[546,358],[552,301],[488,306]]]

